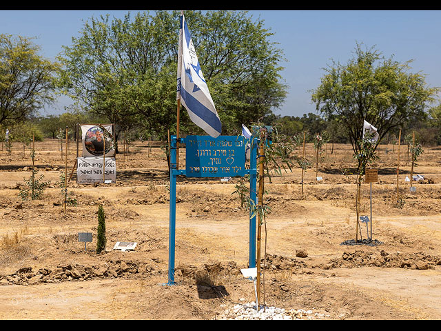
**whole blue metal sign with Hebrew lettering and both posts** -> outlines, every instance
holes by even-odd
[[[187,136],[170,137],[170,221],[168,283],[174,285],[174,261],[176,241],[176,177],[244,177],[249,174],[249,198],[256,204],[257,147],[258,139],[251,137],[250,168],[245,169],[243,136]],[[185,143],[185,169],[177,166],[177,143]],[[249,212],[249,268],[256,267],[256,215]]]

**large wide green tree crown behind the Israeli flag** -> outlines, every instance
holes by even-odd
[[[282,50],[263,21],[247,12],[185,11],[223,134],[280,106]],[[176,132],[179,12],[142,12],[123,19],[91,18],[72,46],[63,46],[63,92],[127,130],[142,125],[161,140]],[[181,112],[183,134],[201,133]],[[119,132],[116,132],[116,138]]]

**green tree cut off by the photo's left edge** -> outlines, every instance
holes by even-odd
[[[39,50],[30,38],[0,34],[0,123],[28,119],[54,101],[59,64]]]

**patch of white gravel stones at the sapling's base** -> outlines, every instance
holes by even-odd
[[[242,298],[241,298],[242,299]],[[239,301],[244,301],[240,300]],[[327,314],[314,313],[312,310],[285,310],[284,308],[266,307],[265,311],[263,307],[256,311],[256,303],[236,304],[232,307],[222,305],[226,308],[221,313],[218,319],[237,319],[237,320],[250,320],[250,319],[262,319],[262,320],[294,320],[294,319],[325,319],[329,317]]]

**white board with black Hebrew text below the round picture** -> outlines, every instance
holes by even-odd
[[[79,184],[103,183],[103,158],[79,157],[76,168],[76,182]],[[116,183],[116,161],[105,158],[105,183]]]

